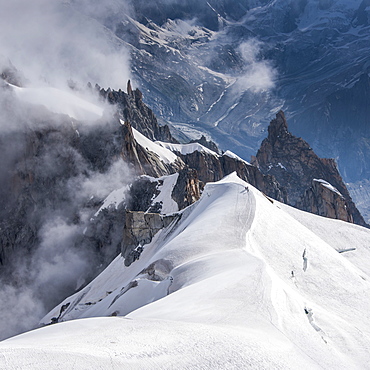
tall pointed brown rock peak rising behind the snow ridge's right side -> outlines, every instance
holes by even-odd
[[[318,209],[323,212],[324,208],[315,206],[312,209],[307,209],[308,204],[313,203],[308,201],[302,203],[301,197],[307,189],[311,188],[314,179],[326,180],[338,189],[344,197],[345,205],[353,222],[363,226],[366,225],[360,212],[352,202],[335,161],[319,158],[307,142],[292,135],[288,131],[288,124],[282,111],[271,121],[268,128],[268,137],[263,140],[254,163],[263,173],[273,175],[280,184],[284,184],[287,190],[288,204],[299,207],[304,203],[303,208],[314,213],[317,213]],[[316,195],[321,193],[317,190],[314,187],[311,193]],[[333,214],[331,211],[329,213]],[[326,216],[329,216],[329,213]],[[336,214],[345,215],[343,219],[347,221],[347,211],[343,210],[342,213],[337,210]]]

